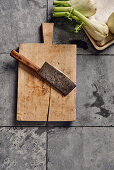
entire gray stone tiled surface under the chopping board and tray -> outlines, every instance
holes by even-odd
[[[113,170],[114,128],[94,126],[114,126],[114,45],[95,50],[83,31],[73,33],[75,23],[52,19],[52,1],[0,1],[0,126],[24,126],[0,128],[0,170]],[[9,53],[41,42],[47,17],[54,43],[78,45],[77,120],[17,122],[17,62]],[[25,127],[46,125],[61,128]]]

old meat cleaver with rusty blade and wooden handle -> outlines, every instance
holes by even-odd
[[[70,80],[63,72],[47,62],[45,62],[43,66],[39,68],[15,50],[12,50],[10,55],[32,70],[36,71],[40,77],[50,83],[64,96],[69,94],[76,87],[76,84],[72,82],[72,80]]]

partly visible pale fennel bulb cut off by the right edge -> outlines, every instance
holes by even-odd
[[[109,16],[107,25],[112,34],[114,34],[114,12]]]

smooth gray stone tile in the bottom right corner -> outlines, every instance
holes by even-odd
[[[112,170],[113,141],[113,128],[50,129],[48,170]]]

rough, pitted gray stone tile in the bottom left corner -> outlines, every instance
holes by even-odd
[[[46,170],[45,128],[0,128],[1,170]]]

